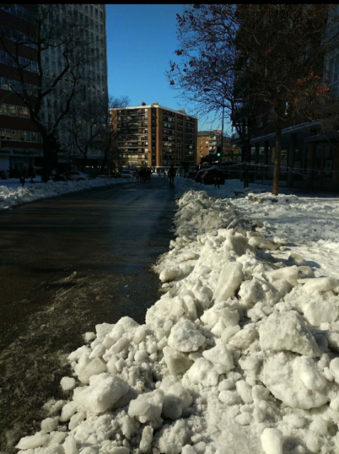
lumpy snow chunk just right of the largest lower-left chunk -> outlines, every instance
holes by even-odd
[[[151,392],[139,394],[129,403],[129,416],[135,416],[141,423],[160,418],[163,408],[164,392],[155,389]]]

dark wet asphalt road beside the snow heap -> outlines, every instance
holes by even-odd
[[[90,189],[0,213],[0,453],[67,399],[65,358],[97,323],[144,323],[160,297],[151,270],[176,210],[167,179]]]

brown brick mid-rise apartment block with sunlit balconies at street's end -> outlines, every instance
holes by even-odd
[[[171,165],[193,168],[198,137],[198,118],[185,113],[151,105],[111,109],[117,137],[112,144],[122,167],[148,165],[157,172]]]

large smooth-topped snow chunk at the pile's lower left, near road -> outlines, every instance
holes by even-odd
[[[102,413],[112,407],[129,387],[107,373],[90,377],[90,386],[75,388],[74,400],[92,413]]]

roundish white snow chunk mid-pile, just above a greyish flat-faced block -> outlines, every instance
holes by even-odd
[[[203,343],[205,336],[199,333],[189,320],[178,321],[171,329],[168,345],[181,352],[195,352]]]

